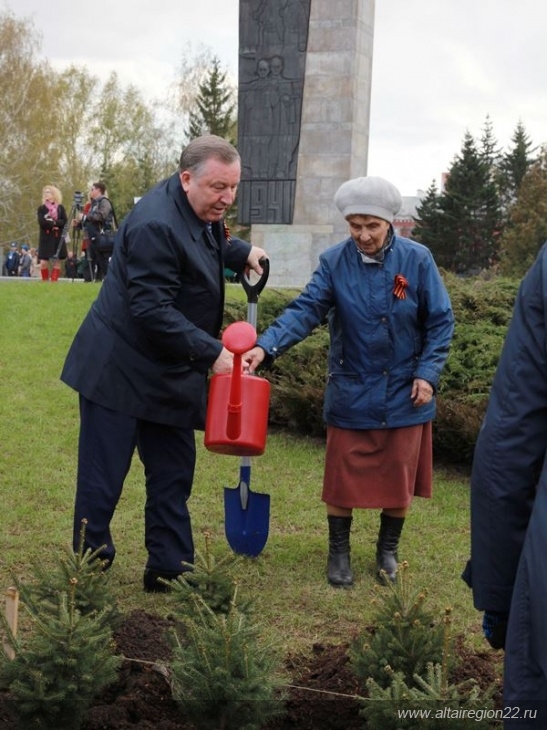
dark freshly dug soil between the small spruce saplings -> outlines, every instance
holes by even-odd
[[[161,672],[162,662],[170,656],[166,632],[171,625],[144,611],[124,618],[115,639],[119,653],[130,659],[124,659],[118,681],[95,700],[83,730],[196,730],[185,722]],[[483,688],[496,681],[495,654],[473,654],[462,640],[455,648],[459,670],[454,681],[472,677]],[[363,730],[355,700],[363,690],[349,666],[347,649],[347,645],[315,644],[309,655],[287,658],[292,677],[287,714],[268,730]],[[13,705],[0,693],[0,730],[16,727]]]

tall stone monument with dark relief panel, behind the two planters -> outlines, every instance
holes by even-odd
[[[347,236],[338,187],[367,174],[374,0],[240,0],[239,222],[301,287]]]

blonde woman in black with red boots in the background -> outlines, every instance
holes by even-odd
[[[38,260],[42,281],[57,281],[61,274],[61,261],[66,259],[66,244],[61,235],[67,223],[67,214],[62,204],[61,191],[53,185],[42,190],[42,204],[38,208]],[[51,274],[50,274],[51,267]]]

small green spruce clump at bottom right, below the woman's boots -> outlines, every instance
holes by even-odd
[[[441,730],[447,718],[457,718],[458,728],[476,727],[477,720],[493,726],[495,683],[482,689],[475,678],[453,682],[459,667],[450,637],[451,609],[435,621],[425,606],[427,591],[412,586],[408,563],[399,566],[388,587],[387,593],[377,587],[372,634],[365,629],[350,648],[351,668],[368,692],[360,700],[366,727]]]

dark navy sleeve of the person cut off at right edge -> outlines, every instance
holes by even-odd
[[[546,249],[524,278],[471,474],[471,560],[479,610],[508,611],[547,442]]]

